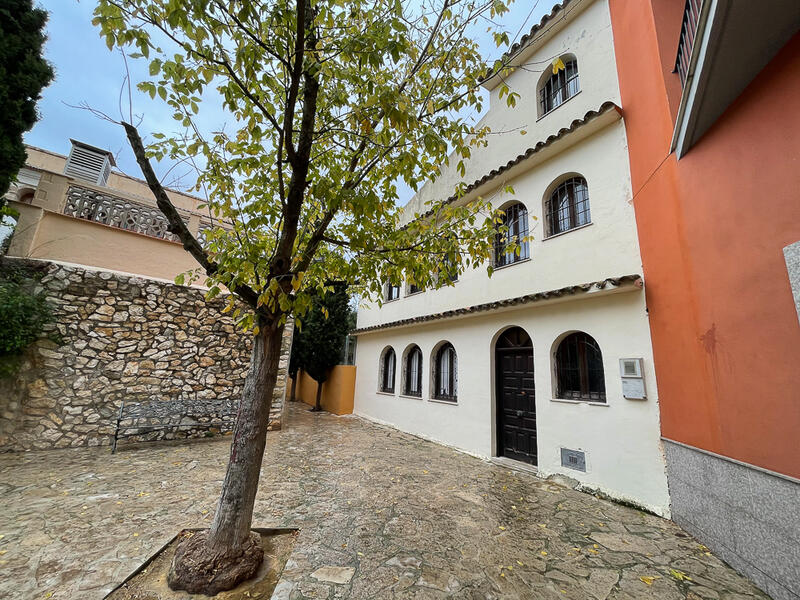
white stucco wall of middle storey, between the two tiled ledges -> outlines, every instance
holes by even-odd
[[[592,224],[550,239],[544,237],[544,200],[553,181],[568,173],[586,178]],[[630,202],[627,141],[621,120],[608,125],[553,158],[510,180],[514,194],[493,198],[500,207],[516,199],[528,209],[531,259],[497,269],[467,270],[452,287],[426,290],[387,302],[365,304],[358,327],[553,290],[606,277],[641,274],[642,263]],[[535,217],[535,218],[534,218]]]

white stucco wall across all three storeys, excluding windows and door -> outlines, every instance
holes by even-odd
[[[535,91],[539,72],[517,70],[508,81],[522,95],[518,108],[508,109],[502,101],[495,101],[484,122],[498,131],[525,128],[528,134],[492,136],[490,147],[468,164],[465,177],[468,182],[568,127],[603,102],[611,100],[619,104],[607,0],[583,0],[570,6],[578,8],[547,32],[548,39],[526,61],[529,68],[537,71],[538,65],[541,71],[554,56],[574,54],[578,59],[581,92],[537,121]],[[400,299],[380,308],[362,306],[358,327],[607,277],[641,274],[624,127],[616,112],[590,121],[528,159],[524,168],[498,177],[496,189],[484,195],[498,208],[510,200],[525,204],[533,235],[529,242],[530,260],[498,269],[491,278],[485,265],[467,270],[452,287],[413,296],[406,296],[402,286]],[[582,175],[587,181],[591,224],[546,239],[545,196],[554,182],[572,174]],[[514,194],[501,191],[506,184],[514,187]],[[452,185],[453,179],[445,176],[427,186],[412,200],[408,214],[433,194],[448,197],[452,191],[448,186]],[[513,310],[362,334],[356,361],[355,412],[480,456],[496,455],[494,340],[510,326],[522,327],[533,341],[540,474],[563,473],[612,497],[668,515],[649,323],[644,293],[638,289],[586,295],[569,301],[537,302]],[[605,404],[553,398],[554,344],[571,331],[588,333],[600,346],[605,368]],[[451,342],[458,354],[455,405],[430,398],[432,352],[444,340]],[[424,357],[422,399],[399,393],[401,357],[412,343],[419,345]],[[391,395],[378,392],[379,361],[387,345],[394,348],[398,363],[397,393]],[[647,400],[622,397],[620,358],[644,360]],[[561,467],[561,448],[584,451],[586,472]]]

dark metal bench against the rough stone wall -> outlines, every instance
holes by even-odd
[[[188,431],[190,434],[192,430],[199,433],[211,428],[219,429],[220,433],[232,431],[237,407],[238,402],[233,400],[197,398],[123,402],[117,414],[111,454],[117,451],[117,442],[123,437],[138,437],[156,431]]]

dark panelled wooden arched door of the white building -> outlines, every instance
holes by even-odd
[[[504,331],[495,344],[497,455],[537,464],[536,386],[533,343],[521,327]]]

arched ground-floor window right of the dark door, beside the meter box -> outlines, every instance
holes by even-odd
[[[556,350],[558,398],[606,401],[603,355],[590,335],[571,333]]]

